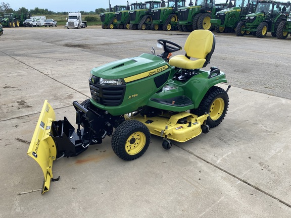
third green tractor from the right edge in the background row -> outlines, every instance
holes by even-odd
[[[215,14],[215,19],[210,22],[215,26],[217,33],[233,32],[241,18],[250,12],[252,13],[254,4],[250,0],[229,0],[227,9],[221,10]]]

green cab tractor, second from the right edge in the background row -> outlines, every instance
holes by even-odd
[[[264,38],[267,32],[276,37],[280,22],[286,18],[282,13],[282,3],[274,1],[260,1],[256,4],[255,13],[248,14],[236,26],[236,36],[244,36],[248,32],[258,38]]]

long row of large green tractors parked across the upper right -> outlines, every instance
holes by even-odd
[[[284,39],[291,33],[290,3],[256,0],[195,0],[188,6],[185,0],[147,1],[127,6],[110,7],[100,14],[103,29],[139,30],[214,30],[235,32],[237,36],[259,38],[271,32]]]

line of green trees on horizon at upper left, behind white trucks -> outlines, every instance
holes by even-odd
[[[104,12],[109,12],[109,9],[99,8],[99,9],[95,9],[95,11],[90,11],[90,12],[80,11],[80,13],[83,15],[94,15],[94,14],[101,14]],[[17,14],[29,13],[29,14],[33,14],[33,15],[67,15],[69,12],[53,12],[53,11],[49,11],[47,9],[40,9],[40,8],[28,10],[24,7],[15,11],[10,7],[9,3],[1,3],[0,4],[0,16],[5,14],[5,13],[17,13]]]

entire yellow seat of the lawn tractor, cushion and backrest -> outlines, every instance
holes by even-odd
[[[169,64],[188,70],[206,67],[210,63],[214,48],[215,36],[211,31],[194,30],[185,42],[185,56],[174,56],[170,59]],[[195,58],[196,60],[190,60],[190,58]]]

